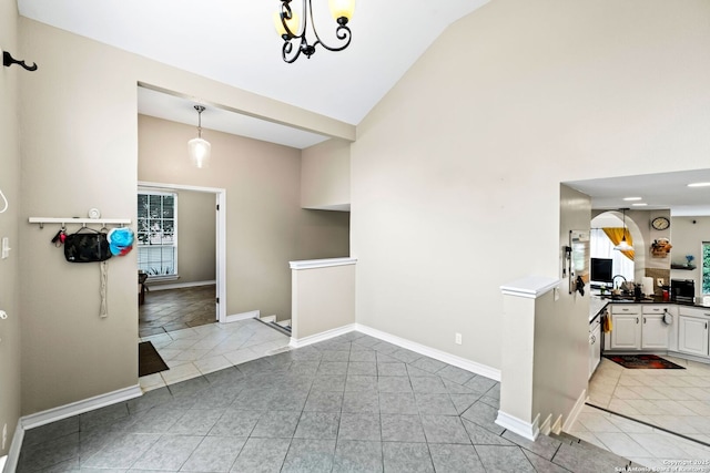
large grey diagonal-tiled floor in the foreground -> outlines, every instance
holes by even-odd
[[[564,439],[526,441],[494,422],[498,400],[496,381],[351,332],[32,429],[19,471],[596,473],[629,464]]]

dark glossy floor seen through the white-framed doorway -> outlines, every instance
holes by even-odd
[[[139,336],[149,337],[216,321],[215,286],[149,290],[139,306]]]

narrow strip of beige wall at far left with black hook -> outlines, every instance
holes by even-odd
[[[0,47],[18,59],[26,58],[18,48],[17,2],[0,1]],[[8,428],[8,442],[0,445],[0,456],[8,453],[10,441],[20,415],[20,313],[18,219],[20,215],[20,151],[18,115],[20,113],[18,84],[31,72],[16,66],[0,66],[0,191],[10,206],[0,214],[0,238],[9,237],[13,248],[10,257],[0,259],[0,310],[9,318],[0,320],[0,433]],[[4,202],[0,198],[0,210]]]

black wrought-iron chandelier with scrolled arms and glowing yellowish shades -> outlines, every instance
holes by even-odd
[[[302,0],[303,2],[303,16],[291,9],[292,0],[280,0],[281,10],[276,12],[275,23],[276,31],[284,40],[284,47],[282,49],[282,56],[285,62],[292,63],[301,53],[304,53],[306,58],[311,59],[311,55],[315,52],[315,47],[321,44],[328,51],[343,51],[351,44],[352,33],[347,27],[347,22],[353,18],[353,10],[355,9],[355,0],[328,0],[331,6],[331,14],[337,22],[335,29],[335,37],[339,43],[335,47],[328,45],[321,40],[318,32],[315,29],[313,22],[313,7],[312,0]],[[311,25],[308,27],[308,20]],[[313,44],[308,43],[306,33],[312,32],[315,37]],[[294,44],[298,43],[298,44]]]

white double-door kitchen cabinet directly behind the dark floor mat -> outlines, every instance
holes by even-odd
[[[612,305],[612,350],[667,350],[669,326],[663,316],[669,306]]]

